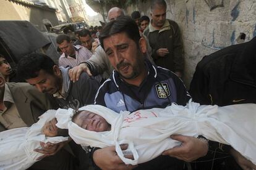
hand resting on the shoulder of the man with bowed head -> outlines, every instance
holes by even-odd
[[[80,65],[69,70],[70,80],[75,83],[75,81],[79,80],[79,77],[82,72],[86,72],[89,76],[92,76],[92,73],[90,69],[87,67],[87,65],[85,63],[80,63]]]

